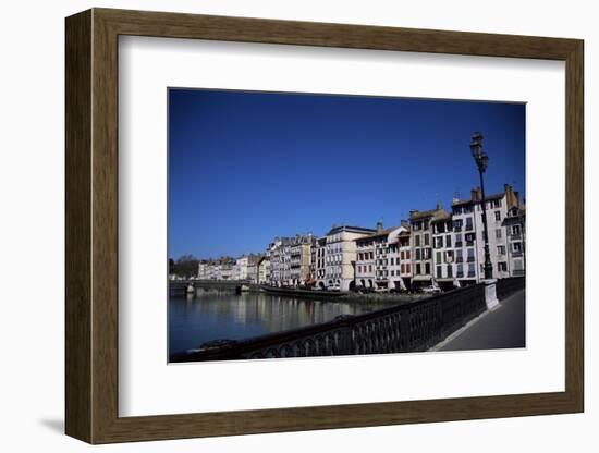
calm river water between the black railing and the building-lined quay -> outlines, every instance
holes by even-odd
[[[388,306],[217,291],[171,296],[169,352],[196,348],[211,340],[241,340],[280,332],[330,321],[339,315],[359,315]]]

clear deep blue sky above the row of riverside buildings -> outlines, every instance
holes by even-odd
[[[525,189],[525,106],[227,90],[169,90],[169,256],[262,252],[333,223],[398,224],[478,172],[488,194]]]

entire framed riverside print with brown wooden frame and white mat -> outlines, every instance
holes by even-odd
[[[576,39],[68,17],[66,433],[582,412],[583,112]]]

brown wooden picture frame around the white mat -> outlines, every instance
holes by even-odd
[[[65,431],[89,443],[576,413],[584,409],[583,41],[93,9],[66,19]],[[565,391],[119,417],[118,37],[565,61]]]

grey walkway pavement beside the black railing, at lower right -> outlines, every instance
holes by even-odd
[[[526,346],[524,290],[500,301],[436,347],[437,351],[502,350]]]

